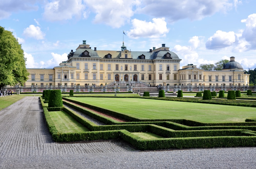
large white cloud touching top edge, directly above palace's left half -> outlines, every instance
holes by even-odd
[[[137,0],[84,0],[89,12],[96,13],[94,23],[104,23],[113,28],[119,28],[125,23],[130,22],[133,16],[133,6],[139,4]]]

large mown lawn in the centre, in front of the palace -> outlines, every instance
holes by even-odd
[[[244,122],[256,108],[141,98],[70,97],[140,119],[188,119],[204,123]]]

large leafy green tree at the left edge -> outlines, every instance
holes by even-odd
[[[0,88],[23,85],[28,79],[24,51],[12,32],[0,26]]]

